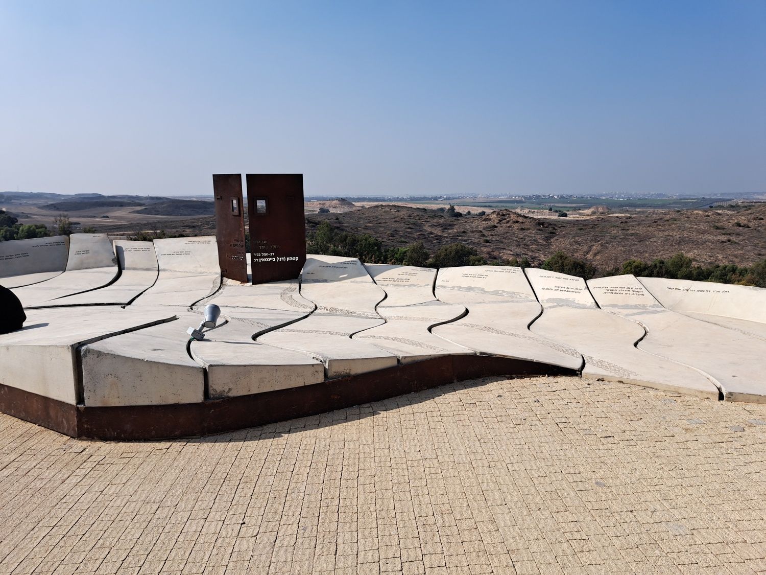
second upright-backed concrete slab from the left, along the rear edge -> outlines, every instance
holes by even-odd
[[[64,273],[13,291],[25,308],[110,284],[119,274],[112,242],[106,234],[72,234]]]

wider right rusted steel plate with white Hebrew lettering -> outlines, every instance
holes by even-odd
[[[295,279],[306,263],[303,174],[247,174],[252,281]]]

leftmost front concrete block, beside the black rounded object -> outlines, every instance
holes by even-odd
[[[77,403],[78,346],[172,317],[121,307],[30,310],[22,330],[0,335],[0,383]]]

